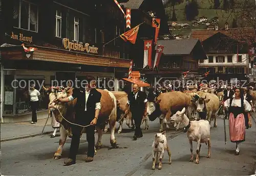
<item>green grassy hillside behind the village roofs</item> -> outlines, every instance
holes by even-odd
[[[224,11],[223,9],[223,1],[220,1],[220,7],[219,9],[214,9],[214,0],[198,0],[197,1],[199,5],[199,14],[196,16],[195,20],[197,18],[200,18],[202,16],[207,17],[208,22],[211,23],[211,19],[214,17],[219,18],[219,28],[225,28],[225,22],[229,23],[230,28],[232,27],[233,17],[230,15],[230,11]],[[189,35],[191,29],[207,29],[207,26],[205,24],[200,24],[198,27],[192,26],[193,21],[187,21],[186,20],[186,14],[185,14],[185,6],[186,1],[179,5],[175,5],[175,14],[177,17],[178,23],[187,23],[189,24],[189,29],[178,29],[178,30],[172,30],[172,33],[174,35],[181,34],[181,35]],[[171,4],[166,5],[165,7],[165,13],[168,16],[168,21],[172,21],[172,15],[173,15],[173,7]]]

